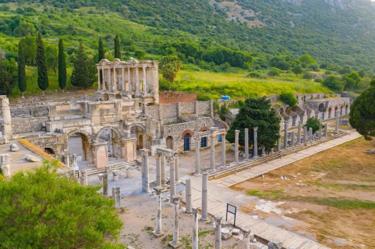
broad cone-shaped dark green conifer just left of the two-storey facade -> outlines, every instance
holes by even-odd
[[[71,83],[73,86],[80,86],[82,88],[88,88],[93,84],[92,77],[90,77],[89,63],[83,50],[82,42],[80,43],[73,65]]]

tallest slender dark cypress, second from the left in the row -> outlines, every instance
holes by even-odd
[[[38,86],[43,91],[44,96],[44,91],[48,88],[48,74],[42,34],[40,32],[38,32],[36,37],[36,65],[38,67]]]

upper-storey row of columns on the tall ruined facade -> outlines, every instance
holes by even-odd
[[[119,90],[118,83],[117,82],[117,69],[121,68],[121,74],[122,74],[122,84],[121,84],[121,90],[125,92],[129,92],[129,82],[130,82],[130,67],[127,67],[127,80],[125,80],[125,67],[110,67],[106,68],[105,66],[102,66],[102,68],[98,67],[98,90]],[[100,79],[100,70],[102,70],[102,82]],[[113,72],[113,73],[112,73]],[[146,67],[142,67],[142,73],[143,73],[143,82],[142,82],[142,92],[147,92],[147,80],[146,80]],[[113,84],[112,84],[112,77],[113,77]],[[141,84],[139,83],[139,71],[138,66],[135,67],[135,84],[136,84],[136,92],[141,91]],[[108,88],[105,88],[105,82],[108,82]]]

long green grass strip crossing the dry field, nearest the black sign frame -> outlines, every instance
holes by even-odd
[[[294,200],[299,202],[332,206],[339,209],[375,209],[375,202],[365,202],[358,199],[345,199],[336,197],[290,196],[282,193],[282,191],[283,190],[272,190],[261,192],[259,190],[250,190],[247,194],[271,200]]]

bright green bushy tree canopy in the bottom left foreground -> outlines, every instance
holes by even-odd
[[[120,248],[108,242],[122,222],[113,200],[98,193],[101,186],[80,186],[60,176],[51,162],[43,165],[0,181],[0,246]]]

